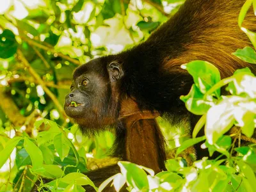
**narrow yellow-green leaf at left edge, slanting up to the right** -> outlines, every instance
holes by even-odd
[[[6,143],[6,145],[5,145],[6,147],[3,150],[0,151],[0,156],[1,156],[1,158],[0,158],[0,168],[3,166],[3,164],[10,157],[14,147],[16,147],[16,145],[19,143],[20,140],[21,140],[20,137],[12,138],[11,140],[9,140]]]

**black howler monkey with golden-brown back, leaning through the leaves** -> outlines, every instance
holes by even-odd
[[[250,64],[232,56],[237,49],[251,46],[237,26],[243,3],[187,0],[145,42],[76,68],[65,112],[84,134],[102,131],[107,125],[115,127],[115,157],[155,172],[165,170],[164,139],[155,118],[167,115],[173,124],[188,120],[191,127],[197,119],[179,99],[193,84],[193,78],[180,65],[209,61],[219,68],[221,77],[243,67],[255,72]],[[243,25],[256,31],[252,10]],[[204,156],[200,150],[197,155]],[[116,172],[118,167],[110,166],[90,172],[88,177],[99,186]]]

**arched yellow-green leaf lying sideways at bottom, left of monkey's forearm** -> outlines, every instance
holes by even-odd
[[[77,184],[79,186],[84,186],[84,185],[90,185],[94,189],[97,189],[95,185],[93,184],[92,180],[90,180],[86,175],[83,173],[68,173],[65,175],[65,177],[60,179],[61,182],[65,182],[67,184]]]

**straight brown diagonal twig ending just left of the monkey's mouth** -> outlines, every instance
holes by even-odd
[[[26,60],[26,58],[24,57],[22,51],[20,51],[20,49],[17,50],[17,54],[19,55],[19,59],[20,61],[22,61],[22,63],[24,64],[24,66],[26,68],[28,68],[28,72],[31,74],[31,76],[33,76],[36,81],[38,82],[38,84],[40,84],[44,90],[44,92],[51,98],[51,100],[54,102],[54,104],[56,105],[56,108],[58,109],[58,111],[61,113],[61,115],[66,119],[67,116],[65,115],[65,112],[63,110],[63,106],[60,104],[60,102],[58,101],[58,99],[55,97],[55,95],[49,90],[49,88],[47,88],[47,86],[45,85],[44,81],[41,79],[41,77],[36,73],[36,71],[29,65],[28,60]]]

